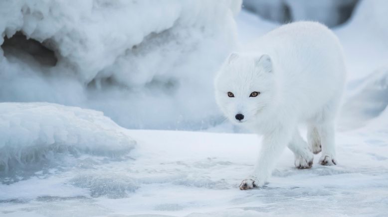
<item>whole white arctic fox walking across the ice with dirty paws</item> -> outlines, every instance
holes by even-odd
[[[263,135],[241,190],[263,186],[286,146],[297,168],[311,168],[321,150],[320,164],[336,164],[334,121],[345,75],[338,38],[317,22],[283,25],[226,59],[214,82],[217,104],[232,122]],[[300,123],[307,124],[307,142]]]

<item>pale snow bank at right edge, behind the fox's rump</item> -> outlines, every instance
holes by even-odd
[[[336,30],[348,61],[348,88],[340,114],[342,128],[357,128],[388,105],[388,1],[364,0]]]

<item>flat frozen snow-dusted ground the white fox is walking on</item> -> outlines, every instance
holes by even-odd
[[[387,112],[386,112],[387,114]],[[380,117],[388,120],[388,116]],[[381,119],[377,119],[381,120]],[[380,121],[378,121],[381,123]],[[387,121],[339,133],[339,164],[293,166],[286,150],[263,189],[238,190],[253,169],[252,134],[129,130],[135,159],[0,185],[3,216],[373,216],[388,212]],[[55,190],[54,190],[55,189]]]

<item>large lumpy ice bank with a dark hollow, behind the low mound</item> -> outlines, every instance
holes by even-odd
[[[94,108],[132,128],[214,124],[213,72],[235,46],[240,5],[1,1],[0,101]]]

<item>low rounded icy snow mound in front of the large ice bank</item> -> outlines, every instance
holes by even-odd
[[[41,175],[55,166],[95,163],[83,154],[127,157],[134,146],[125,129],[100,111],[48,103],[0,104],[2,182],[25,179],[35,172]]]

